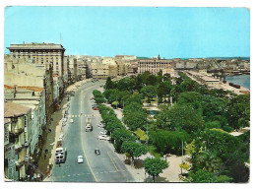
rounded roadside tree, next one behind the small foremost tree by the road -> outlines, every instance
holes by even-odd
[[[132,161],[134,162],[134,158],[139,158],[142,155],[146,155],[147,149],[140,143],[125,141],[122,144],[121,152],[129,153],[131,155]]]

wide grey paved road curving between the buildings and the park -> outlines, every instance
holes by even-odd
[[[61,166],[54,164],[50,181],[80,181],[80,182],[134,182],[124,163],[117,158],[112,145],[107,141],[97,140],[100,128],[96,125],[101,121],[98,111],[91,108],[93,91],[99,89],[103,82],[87,83],[77,90],[70,100],[69,120],[64,129],[64,146],[68,155]],[[93,132],[86,132],[87,117],[94,114]],[[95,155],[95,149],[101,152]],[[78,163],[77,157],[82,155],[84,163]]]

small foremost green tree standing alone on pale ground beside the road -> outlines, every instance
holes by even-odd
[[[156,177],[160,175],[163,169],[168,167],[166,160],[161,160],[160,158],[145,158],[144,167],[148,174],[153,177],[155,182]]]

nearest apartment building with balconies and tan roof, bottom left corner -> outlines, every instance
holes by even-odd
[[[32,110],[20,104],[5,102],[4,118],[5,129],[9,127],[9,144],[6,142],[4,157],[5,177],[15,181],[24,180],[31,159],[29,145],[32,136]]]

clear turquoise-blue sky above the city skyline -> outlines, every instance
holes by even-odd
[[[250,12],[246,8],[5,9],[5,47],[24,41],[59,43],[60,33],[66,54],[250,56]]]

